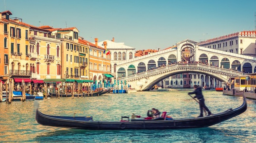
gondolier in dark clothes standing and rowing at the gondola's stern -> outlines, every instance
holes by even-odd
[[[206,109],[206,111],[208,112],[207,116],[212,115],[211,111],[208,109],[208,107],[206,107],[205,103],[204,103],[204,96],[202,95],[202,88],[194,85],[194,91],[193,92],[189,92],[188,94],[195,94],[195,96],[193,98],[197,98],[199,100],[199,107],[200,107],[200,115],[198,117],[203,117],[203,108]]]

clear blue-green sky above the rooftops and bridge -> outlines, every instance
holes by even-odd
[[[67,23],[90,42],[115,37],[139,50],[254,30],[256,0],[0,0],[5,9],[34,26]]]

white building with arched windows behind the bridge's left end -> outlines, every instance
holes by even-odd
[[[116,65],[122,61],[133,59],[135,55],[135,48],[126,46],[125,43],[114,42],[114,37],[111,41],[105,41],[107,41],[107,49],[111,52],[111,73],[116,76]],[[103,44],[104,41],[98,43],[99,46],[102,46]]]

